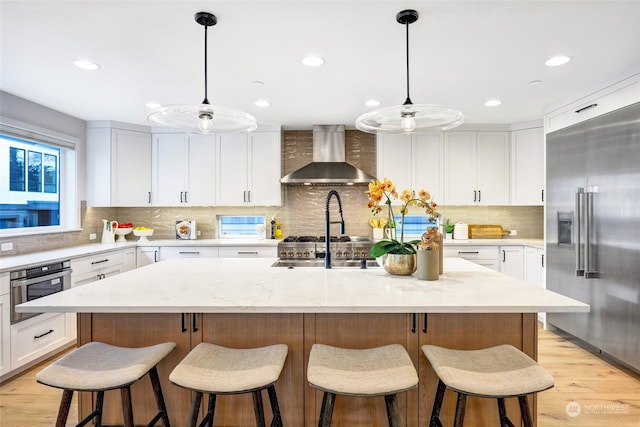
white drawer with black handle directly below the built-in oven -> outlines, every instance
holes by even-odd
[[[45,313],[11,325],[11,369],[65,344],[66,314]]]

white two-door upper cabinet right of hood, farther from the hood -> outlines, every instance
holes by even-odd
[[[444,203],[509,204],[509,133],[445,132]]]

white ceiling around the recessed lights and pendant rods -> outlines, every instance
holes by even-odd
[[[640,1],[8,1],[0,0],[0,89],[84,120],[147,124],[145,103],[198,104],[209,28],[209,100],[260,124],[345,124],[405,99],[468,123],[540,119],[544,106],[640,64]],[[325,65],[309,68],[317,54]],[[556,54],[573,60],[549,68]],[[78,58],[100,64],[88,72]],[[536,86],[532,80],[541,80]],[[253,82],[261,81],[263,86]],[[502,105],[487,108],[489,98]],[[269,108],[254,105],[257,99]]]

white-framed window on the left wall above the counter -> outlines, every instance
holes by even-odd
[[[5,124],[1,130],[0,236],[77,228],[75,143]]]

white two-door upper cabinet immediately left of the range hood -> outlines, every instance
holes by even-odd
[[[217,135],[216,205],[282,204],[280,131]]]

